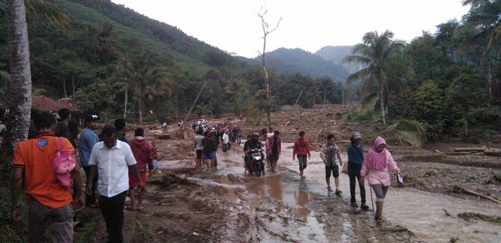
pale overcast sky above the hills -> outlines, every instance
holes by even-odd
[[[331,45],[361,42],[368,31],[390,29],[410,41],[422,31],[452,18],[461,20],[468,7],[461,0],[112,0],[150,18],[174,25],[219,49],[255,57],[263,48],[261,6],[277,31],[268,36],[266,51],[280,47],[312,53]]]

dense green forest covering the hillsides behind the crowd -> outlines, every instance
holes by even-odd
[[[28,18],[34,94],[71,97],[83,110],[109,118],[125,112],[134,120],[141,113],[145,120],[174,120],[183,118],[208,81],[194,114],[245,112],[259,117],[264,110],[259,60],[249,64],[111,1],[54,2],[71,16],[68,28]],[[325,47],[315,54],[300,49],[270,52],[272,109],[293,105],[301,91],[303,107],[322,104],[324,96],[326,103],[342,103],[344,92],[348,101],[360,96],[377,108],[353,111],[353,120],[380,119],[376,114],[384,110],[388,124],[401,118],[417,120],[429,139],[491,136],[501,126],[501,1],[464,3],[471,10],[460,22],[441,23],[434,34],[423,32],[394,55],[378,60],[372,74],[359,72],[364,75],[358,77],[369,77],[360,87],[357,75],[351,76],[353,86],[339,83],[349,76],[347,68],[371,68],[365,66],[369,62],[341,66],[350,47]],[[3,71],[9,71],[7,47],[5,26],[0,25]],[[360,46],[355,51],[371,57]],[[9,86],[3,71],[1,103],[8,101]],[[375,78],[384,79],[382,86]]]

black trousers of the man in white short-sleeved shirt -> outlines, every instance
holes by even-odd
[[[106,231],[108,231],[108,242],[123,242],[124,235],[121,230],[124,228],[124,205],[127,191],[121,192],[115,196],[99,195],[99,207],[106,222]]]

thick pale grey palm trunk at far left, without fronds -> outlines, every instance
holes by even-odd
[[[26,140],[30,129],[32,110],[32,75],[30,72],[30,46],[23,0],[5,0],[5,16],[10,44],[10,78],[14,118],[10,138]]]

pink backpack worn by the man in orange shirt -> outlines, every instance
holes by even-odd
[[[56,149],[56,157],[54,157],[54,183],[59,183],[66,190],[71,189],[71,170],[75,168],[75,159],[68,151],[62,150],[61,138],[58,138],[58,149]]]

